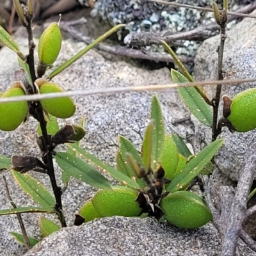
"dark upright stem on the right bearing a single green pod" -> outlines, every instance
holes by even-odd
[[[220,11],[220,47],[218,47],[218,74],[216,80],[223,80],[223,52],[226,35],[226,25],[227,25],[227,10]],[[216,94],[212,99],[213,106],[213,117],[212,117],[212,141],[216,140],[217,136],[220,134],[220,129],[218,129],[218,111],[220,105],[220,96],[221,96],[221,87],[222,84],[218,84],[216,88]]]

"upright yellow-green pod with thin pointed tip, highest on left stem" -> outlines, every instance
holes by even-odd
[[[38,58],[44,65],[52,65],[61,49],[61,31],[56,22],[50,24],[40,36]]]

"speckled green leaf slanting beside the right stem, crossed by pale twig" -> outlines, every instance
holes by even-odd
[[[188,79],[177,70],[171,71],[174,83],[188,83]],[[177,88],[180,97],[196,118],[203,124],[212,125],[212,110],[193,86]]]

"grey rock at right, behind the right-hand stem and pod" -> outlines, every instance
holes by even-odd
[[[254,15],[256,12],[253,12]],[[256,20],[244,19],[233,29],[227,31],[223,68],[225,79],[242,79],[256,77]],[[196,81],[215,79],[217,67],[216,47],[220,44],[220,36],[205,40],[198,49],[195,60]],[[232,99],[237,93],[248,88],[254,88],[255,83],[223,85],[223,95]],[[214,95],[214,87],[205,87],[207,95]],[[221,106],[222,109],[222,106]],[[220,111],[220,116],[222,115]],[[204,129],[200,127],[199,129]],[[209,132],[206,131],[206,132]],[[216,156],[216,164],[221,172],[230,179],[238,180],[239,172],[244,166],[248,145],[255,140],[256,131],[235,132],[231,134],[228,129],[223,129],[220,137],[225,138],[225,145]]]

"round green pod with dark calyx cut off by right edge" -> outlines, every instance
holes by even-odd
[[[234,130],[248,132],[256,128],[256,88],[238,93],[232,101],[225,96],[223,101],[223,115]]]

